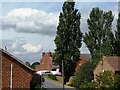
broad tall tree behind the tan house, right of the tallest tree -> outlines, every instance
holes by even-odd
[[[83,41],[92,58],[113,55],[112,11],[104,12],[99,8],[93,8],[89,16],[87,20],[89,31],[83,36]]]

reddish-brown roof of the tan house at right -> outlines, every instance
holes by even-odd
[[[119,56],[109,56],[103,57],[103,60],[107,61],[115,71],[120,71],[120,57]]]

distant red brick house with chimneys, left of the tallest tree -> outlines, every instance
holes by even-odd
[[[42,58],[40,60],[40,65],[35,66],[36,71],[49,71],[53,75],[61,75],[59,72],[59,65],[56,64],[56,62],[52,58],[52,53],[49,52],[43,52]]]

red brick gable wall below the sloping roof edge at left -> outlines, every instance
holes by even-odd
[[[10,88],[10,65],[13,65],[13,88],[30,88],[33,72],[6,54],[2,54],[2,88]]]

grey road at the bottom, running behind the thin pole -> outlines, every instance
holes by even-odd
[[[63,84],[60,84],[56,81],[45,79],[45,82],[43,83],[43,87],[47,90],[63,90]],[[66,86],[64,90],[76,90],[74,87]]]

